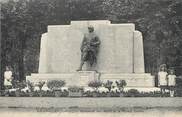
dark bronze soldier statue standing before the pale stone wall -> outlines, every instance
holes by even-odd
[[[97,53],[100,46],[100,39],[94,33],[94,27],[88,26],[88,33],[84,34],[81,44],[81,62],[77,71],[82,70],[84,62],[88,62],[90,66],[97,62]]]

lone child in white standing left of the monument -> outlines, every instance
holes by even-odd
[[[13,80],[13,73],[10,70],[10,67],[6,66],[6,71],[4,72],[5,89],[11,89],[12,88],[12,80]]]

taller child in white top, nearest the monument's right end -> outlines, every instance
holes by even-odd
[[[161,89],[161,95],[162,97],[165,94],[165,89],[167,88],[167,67],[166,64],[162,64],[160,66],[159,72],[158,72],[158,86]]]

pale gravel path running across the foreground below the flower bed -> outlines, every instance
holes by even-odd
[[[182,108],[182,98],[0,97],[0,108]]]

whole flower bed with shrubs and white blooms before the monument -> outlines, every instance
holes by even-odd
[[[161,97],[159,91],[138,91],[136,89],[124,90],[126,82],[124,80],[113,82],[92,81],[88,83],[88,87],[64,87],[65,82],[62,80],[52,80],[38,82],[18,82],[13,89],[3,90],[0,96],[16,96],[16,97]],[[179,90],[179,89],[177,89]],[[179,92],[179,91],[178,91]],[[176,95],[178,96],[178,95]],[[169,92],[163,94],[163,97],[169,97]]]

